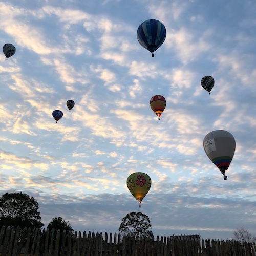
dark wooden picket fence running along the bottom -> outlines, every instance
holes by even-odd
[[[63,239],[62,239],[63,238]],[[25,228],[4,226],[0,230],[1,256],[250,256],[256,255],[255,243],[240,244],[238,241],[210,240],[179,236],[142,238],[121,236],[121,234],[69,232],[36,229],[31,234]]]

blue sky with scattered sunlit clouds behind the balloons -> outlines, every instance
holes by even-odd
[[[256,234],[254,0],[7,0],[0,13],[1,43],[16,47],[0,57],[1,195],[33,196],[44,227],[57,216],[118,233],[140,211],[154,236]],[[136,36],[147,19],[167,31],[154,58]],[[227,180],[203,148],[215,130],[236,140]],[[152,179],[141,208],[135,172]]]

